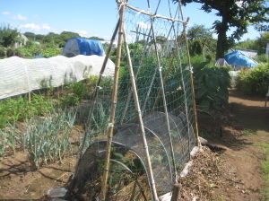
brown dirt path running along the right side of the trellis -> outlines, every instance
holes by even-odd
[[[223,198],[267,200],[262,196],[265,180],[261,162],[265,156],[258,144],[269,144],[269,107],[265,108],[265,98],[249,97],[236,89],[230,90],[229,105],[234,121],[230,125],[224,122],[222,137],[212,139],[227,148],[223,159],[236,171],[235,187],[223,192]]]

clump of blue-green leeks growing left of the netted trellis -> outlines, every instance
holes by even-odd
[[[62,160],[67,153],[73,153],[69,140],[74,125],[75,113],[62,111],[50,117],[31,118],[27,121],[26,148],[33,167]]]

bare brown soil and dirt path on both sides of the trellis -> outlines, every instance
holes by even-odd
[[[180,179],[180,200],[266,200],[258,144],[268,143],[269,107],[265,97],[248,97],[230,90],[229,103],[221,109],[197,111],[199,133],[226,149],[213,153],[202,148],[192,159],[187,177]],[[74,132],[82,132],[75,127]],[[33,170],[22,151],[0,158],[0,200],[48,200],[50,188],[65,187],[77,156]]]

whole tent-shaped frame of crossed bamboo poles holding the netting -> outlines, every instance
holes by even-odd
[[[137,116],[138,116],[138,121],[139,121],[140,132],[141,132],[141,135],[142,135],[142,138],[143,138],[143,151],[144,151],[144,155],[145,155],[145,162],[146,162],[146,168],[147,168],[147,171],[148,171],[150,186],[151,186],[151,189],[152,189],[152,198],[153,198],[153,200],[159,200],[158,195],[157,195],[157,191],[156,191],[156,188],[155,188],[155,182],[154,182],[154,177],[153,177],[153,173],[152,173],[152,163],[151,163],[150,154],[149,154],[148,145],[147,145],[147,140],[146,140],[145,131],[144,131],[144,127],[143,127],[142,116],[143,116],[144,106],[143,106],[143,109],[141,109],[139,101],[138,101],[138,94],[137,94],[137,91],[136,91],[135,77],[136,77],[136,75],[138,73],[136,73],[134,75],[132,61],[131,61],[129,49],[128,49],[128,46],[127,46],[127,43],[126,43],[126,33],[125,33],[125,29],[124,29],[124,20],[125,20],[126,7],[128,6],[129,8],[132,8],[132,9],[134,9],[134,8],[132,6],[126,4],[127,0],[123,0],[123,2],[117,2],[117,3],[120,4],[119,5],[120,17],[119,17],[119,20],[117,22],[117,26],[116,26],[116,29],[115,29],[115,31],[113,33],[113,36],[112,36],[112,38],[110,40],[110,45],[108,47],[108,52],[107,52],[107,55],[106,55],[106,57],[104,59],[103,65],[102,65],[101,70],[100,70],[100,77],[99,77],[97,86],[95,88],[95,91],[93,92],[93,98],[92,98],[92,101],[91,101],[91,109],[90,109],[90,112],[89,112],[89,117],[88,117],[88,119],[86,121],[86,129],[85,129],[85,134],[84,134],[84,138],[83,138],[83,141],[82,141],[82,149],[80,151],[79,162],[81,162],[81,159],[82,159],[82,153],[83,153],[83,150],[84,150],[87,135],[91,130],[91,117],[93,115],[93,109],[95,107],[96,100],[97,100],[97,97],[98,97],[98,94],[99,94],[99,91],[100,91],[100,83],[101,83],[101,80],[102,80],[102,74],[103,74],[103,72],[105,70],[105,67],[107,65],[107,62],[108,62],[108,56],[109,56],[109,53],[111,51],[112,44],[113,44],[114,40],[116,39],[116,35],[118,33],[117,60],[116,60],[116,67],[115,67],[115,74],[114,74],[112,101],[111,101],[111,109],[110,109],[110,118],[109,118],[109,122],[108,122],[107,150],[106,150],[104,171],[103,171],[102,182],[101,182],[101,195],[100,195],[100,198],[101,198],[101,200],[106,199],[106,189],[107,189],[107,181],[108,181],[108,169],[109,169],[109,163],[110,163],[111,145],[112,145],[113,129],[114,129],[114,124],[115,124],[115,115],[116,115],[116,106],[117,106],[117,90],[118,90],[118,78],[119,78],[119,69],[120,69],[120,57],[121,57],[121,50],[122,50],[122,46],[123,46],[123,40],[124,40],[125,44],[126,44],[125,48],[126,48],[126,52],[127,52],[127,62],[128,62],[129,74],[130,74],[131,84],[132,84],[132,93],[129,93],[129,95],[128,95],[129,98],[127,99],[127,104],[126,105],[128,105],[128,101],[130,100],[131,95],[133,94],[134,103],[135,103],[135,109],[136,109]],[[134,10],[137,10],[137,9],[134,9]],[[144,14],[152,15],[151,13],[144,13]],[[168,19],[168,18],[165,18],[165,19]],[[153,24],[153,21],[154,21],[154,18],[151,18],[151,24]],[[184,21],[183,20],[182,21],[178,20],[178,22],[184,22]],[[161,89],[160,89],[160,91],[158,93],[158,97],[159,96],[162,97],[162,100],[163,100],[163,103],[164,103],[164,109],[165,109],[165,118],[166,118],[168,130],[169,130],[169,116],[168,116],[168,110],[167,110],[167,107],[166,107],[165,93],[164,93],[164,90],[163,90],[164,89],[163,85],[166,82],[166,76],[165,76],[164,80],[162,80],[161,62],[160,62],[160,57],[159,57],[157,47],[156,47],[156,38],[155,38],[155,35],[154,35],[153,26],[151,26],[151,31],[152,31],[152,37],[153,37],[153,41],[154,41],[154,48],[155,48],[156,57],[157,57],[157,66],[158,66],[159,75],[160,75],[160,78],[161,78],[160,79]],[[185,29],[184,29],[184,31],[185,31]],[[186,37],[186,35],[183,35],[183,34],[181,34],[181,35]],[[177,48],[178,48],[178,45],[177,45]],[[174,59],[171,60],[169,67],[172,66],[173,60]],[[189,66],[190,66],[190,61],[189,61]],[[157,73],[157,68],[156,68],[155,74],[156,73]],[[155,76],[155,74],[154,74],[154,76]],[[190,77],[190,78],[192,79],[192,77]],[[181,81],[183,82],[182,79],[181,79]],[[184,83],[183,83],[183,86],[184,86]],[[151,89],[151,87],[150,87],[150,89]],[[149,95],[149,91],[148,91],[147,97]],[[193,83],[192,83],[192,92],[193,92]],[[155,101],[155,104],[158,101],[158,97],[157,97],[157,99]],[[146,102],[146,100],[145,100],[145,102]],[[187,106],[186,106],[186,109],[187,109]],[[186,115],[187,114],[188,114],[188,112],[186,111]],[[122,120],[121,120],[121,122],[122,122]],[[187,122],[188,122],[188,117],[187,117]],[[195,125],[196,125],[196,120],[195,120]],[[187,127],[188,127],[188,132],[189,132],[189,125]],[[197,135],[197,129],[196,129],[196,135]],[[173,171],[174,171],[174,174],[175,174],[174,176],[175,176],[175,178],[177,178],[177,175],[176,175],[177,170],[176,170],[176,164],[175,164],[174,153],[173,153],[173,144],[172,144],[170,134],[169,134],[169,143],[170,143],[170,148],[171,148],[170,151],[171,151],[172,162],[173,162],[173,169],[174,169]],[[75,175],[77,175],[77,172],[75,172]],[[177,181],[177,179],[176,179],[176,181]]]

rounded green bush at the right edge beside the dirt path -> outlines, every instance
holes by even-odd
[[[269,88],[269,63],[261,63],[240,71],[236,79],[236,87],[248,95],[264,96]]]

